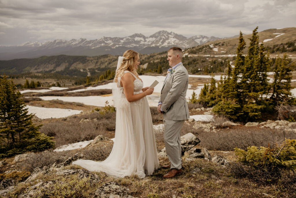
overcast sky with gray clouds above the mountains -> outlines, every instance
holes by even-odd
[[[231,37],[296,27],[296,0],[0,0],[0,45],[54,39]]]

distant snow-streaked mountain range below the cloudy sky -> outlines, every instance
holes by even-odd
[[[81,38],[69,41],[56,39],[45,43],[25,42],[17,46],[0,46],[0,60],[36,58],[59,54],[72,56],[122,55],[127,49],[150,54],[165,51],[172,46],[188,48],[217,39],[221,38],[204,35],[187,38],[174,32],[162,30],[149,37],[143,34],[133,34],[128,37],[102,37],[94,40]]]

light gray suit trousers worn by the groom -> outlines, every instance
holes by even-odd
[[[170,168],[182,168],[181,150],[181,128],[185,120],[173,121],[164,120],[164,142],[165,150],[170,160]]]

